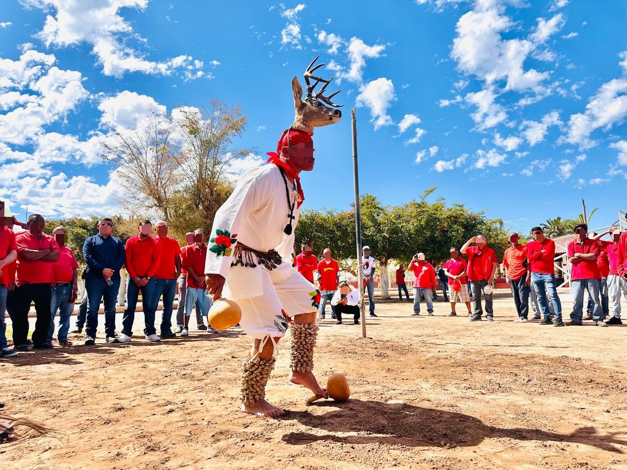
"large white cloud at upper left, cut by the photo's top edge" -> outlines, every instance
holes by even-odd
[[[22,3],[54,11],[55,14],[46,16],[43,29],[37,34],[46,46],[90,44],[105,75],[119,78],[127,71],[171,75],[176,68],[186,66],[191,60],[189,56],[159,62],[145,60],[142,53],[128,45],[131,39],[145,40],[137,36],[119,11],[122,8],[143,11],[148,0],[22,0]]]

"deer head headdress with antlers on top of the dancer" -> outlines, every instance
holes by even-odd
[[[329,80],[325,80],[324,78],[314,75],[314,72],[317,69],[324,66],[324,64],[319,64],[313,67],[315,61],[317,61],[319,57],[320,56],[311,61],[307,70],[305,70],[305,73],[303,74],[305,83],[307,84],[305,98],[303,98],[303,88],[300,86],[298,78],[296,78],[296,76],[292,78],[292,91],[294,93],[295,108],[295,117],[292,128],[306,130],[310,134],[314,133],[314,127],[339,122],[342,118],[342,112],[335,108],[344,106],[336,105],[331,101],[331,98],[337,95],[337,93],[341,90],[335,91],[335,93],[329,95],[328,97],[322,95],[334,77],[331,77]],[[310,80],[315,80],[314,85],[311,84]],[[320,88],[319,91],[314,91],[318,83],[324,83],[324,85],[322,85],[322,88]]]

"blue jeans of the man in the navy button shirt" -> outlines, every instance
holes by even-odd
[[[111,279],[112,285],[108,285],[102,276],[93,276],[85,279],[85,291],[87,291],[87,328],[85,335],[96,337],[98,328],[98,309],[100,301],[105,304],[105,336],[115,337],[115,301],[120,290],[120,279]]]

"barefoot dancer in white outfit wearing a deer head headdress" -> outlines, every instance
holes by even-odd
[[[277,344],[287,331],[283,312],[292,318],[290,382],[327,397],[312,368],[318,332],[320,292],[292,267],[294,229],[304,201],[300,172],[314,169],[314,128],[339,122],[340,110],[322,93],[331,80],[315,76],[324,64],[305,71],[307,93],[292,79],[296,116],[278,140],[266,165],[243,174],[233,194],[220,207],[211,229],[206,258],[206,284],[217,300],[236,301],[240,325],[254,338],[243,363],[240,399],[246,413],[276,417],[285,414],[265,400],[265,386],[274,368]],[[314,85],[311,81],[315,80]],[[323,83],[319,91],[315,87]],[[328,106],[327,106],[328,105]]]

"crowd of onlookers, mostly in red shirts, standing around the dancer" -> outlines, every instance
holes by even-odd
[[[78,262],[68,248],[68,231],[56,227],[51,235],[44,232],[45,220],[39,214],[21,223],[3,217],[0,231],[0,357],[12,357],[18,352],[52,348],[55,333],[55,316],[58,312],[57,340],[61,346],[71,345],[68,340],[70,316],[78,297]],[[25,230],[17,235],[14,225]],[[139,222],[137,235],[122,243],[113,236],[113,222],[103,218],[98,222],[98,233],[88,237],[82,254],[87,266],[82,278],[85,293],[78,309],[76,327],[72,333],[85,329],[85,345],[95,344],[98,328],[98,310],[104,306],[105,339],[107,343],[127,343],[134,335],[133,325],[139,295],[142,296],[144,337],[149,342],[162,338],[189,335],[189,318],[196,313],[199,330],[216,333],[211,325],[204,324],[211,308],[205,284],[207,246],[202,229],[186,234],[182,248],[176,239],[168,236],[168,226],[159,221],[153,229],[149,220]],[[529,320],[529,310],[540,325],[582,325],[583,320],[593,320],[598,326],[621,324],[621,296],[627,298],[627,232],[611,227],[601,234],[588,236],[586,224],[574,227],[576,238],[569,243],[567,256],[572,263],[571,284],[574,305],[570,321],[562,321],[562,305],[557,294],[554,271],[555,243],[544,236],[541,227],[533,227],[532,240],[520,244],[519,235],[510,234],[510,247],[505,251],[503,266],[517,311],[517,323]],[[609,240],[602,239],[610,235]],[[332,258],[329,248],[323,258],[314,256],[313,243],[305,239],[301,253],[294,257],[293,266],[305,279],[317,281],[320,291],[319,313],[326,315],[330,303],[332,318],[342,324],[343,318],[352,315],[359,324],[359,290],[347,281],[340,280],[339,263]],[[369,315],[376,316],[374,277],[376,261],[371,248],[364,246],[359,268],[364,275],[364,296],[369,298]],[[467,256],[467,261],[460,255]],[[444,300],[450,302],[449,316],[456,316],[457,303],[463,303],[470,321],[481,321],[485,311],[487,321],[493,321],[492,291],[497,271],[497,256],[487,244],[487,239],[476,236],[466,241],[461,249],[451,247],[450,259],[441,264],[438,277]],[[126,306],[122,318],[121,334],[116,333],[115,306],[120,290],[120,269],[127,276]],[[436,288],[436,271],[426,261],[424,253],[417,253],[408,266],[414,274],[413,313],[420,315],[424,300],[426,311],[433,316],[433,294]],[[409,299],[403,264],[396,270],[399,298],[404,292]],[[314,279],[314,274],[317,276]],[[176,328],[172,328],[174,299],[178,291]],[[589,301],[586,315],[583,312],[584,291]],[[162,317],[159,335],[155,313],[162,298]],[[483,305],[482,305],[483,298]],[[28,338],[28,313],[34,303],[36,323],[31,339]],[[484,310],[485,309],[485,310]],[[13,323],[13,349],[6,342],[4,311]],[[607,319],[607,317],[610,317]]]

